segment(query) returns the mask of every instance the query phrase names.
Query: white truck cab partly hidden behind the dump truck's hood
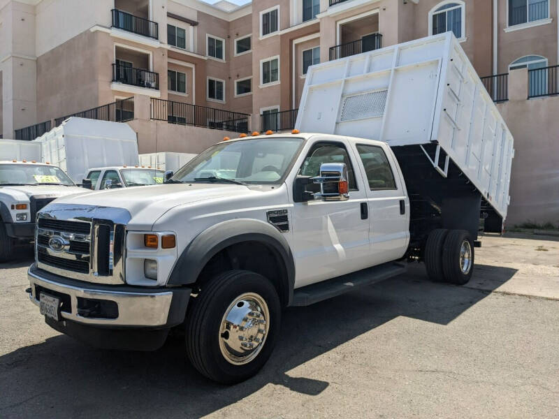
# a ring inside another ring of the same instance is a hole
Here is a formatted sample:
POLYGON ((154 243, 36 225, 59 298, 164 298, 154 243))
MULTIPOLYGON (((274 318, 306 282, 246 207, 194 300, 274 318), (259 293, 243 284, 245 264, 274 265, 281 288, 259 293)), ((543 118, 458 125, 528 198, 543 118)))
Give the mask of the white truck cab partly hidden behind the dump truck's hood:
MULTIPOLYGON (((129 186, 162 184, 164 175, 164 170, 154 169, 150 166, 112 166, 89 169, 85 180, 91 182, 90 189, 101 191, 129 186)), ((89 187, 89 182, 84 182, 84 185, 86 184, 89 187)))

